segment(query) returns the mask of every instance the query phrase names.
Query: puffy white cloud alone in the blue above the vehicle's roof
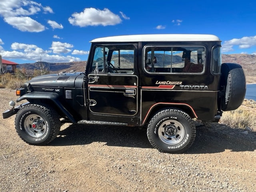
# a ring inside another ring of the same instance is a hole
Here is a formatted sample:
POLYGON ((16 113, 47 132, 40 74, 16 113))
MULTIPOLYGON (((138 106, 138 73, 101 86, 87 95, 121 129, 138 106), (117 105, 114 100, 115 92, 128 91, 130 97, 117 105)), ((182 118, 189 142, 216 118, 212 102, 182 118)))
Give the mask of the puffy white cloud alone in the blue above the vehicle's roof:
POLYGON ((104 8, 104 10, 85 8, 83 12, 73 13, 68 21, 70 24, 80 27, 116 25, 122 22, 118 15, 107 8, 104 8))

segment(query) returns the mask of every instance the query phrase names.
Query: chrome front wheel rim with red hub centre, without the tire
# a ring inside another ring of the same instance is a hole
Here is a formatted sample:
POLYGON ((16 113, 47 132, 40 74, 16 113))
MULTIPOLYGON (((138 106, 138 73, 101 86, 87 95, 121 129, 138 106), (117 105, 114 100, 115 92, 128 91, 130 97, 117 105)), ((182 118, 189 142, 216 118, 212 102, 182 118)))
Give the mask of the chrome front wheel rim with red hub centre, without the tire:
POLYGON ((41 116, 32 114, 24 120, 24 128, 30 136, 38 138, 45 134, 46 122, 41 116))

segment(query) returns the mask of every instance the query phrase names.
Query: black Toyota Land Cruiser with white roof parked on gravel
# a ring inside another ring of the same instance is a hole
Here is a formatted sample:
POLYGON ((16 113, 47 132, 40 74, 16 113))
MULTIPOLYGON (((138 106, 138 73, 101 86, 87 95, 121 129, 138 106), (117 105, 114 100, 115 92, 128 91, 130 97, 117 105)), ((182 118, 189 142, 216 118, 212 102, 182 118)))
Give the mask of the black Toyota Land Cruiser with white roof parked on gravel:
POLYGON ((221 63, 214 35, 154 34, 91 41, 85 72, 38 76, 16 90, 16 132, 29 144, 48 144, 61 120, 147 128, 160 152, 184 152, 196 136, 194 120, 218 122, 244 100, 242 67, 221 63))

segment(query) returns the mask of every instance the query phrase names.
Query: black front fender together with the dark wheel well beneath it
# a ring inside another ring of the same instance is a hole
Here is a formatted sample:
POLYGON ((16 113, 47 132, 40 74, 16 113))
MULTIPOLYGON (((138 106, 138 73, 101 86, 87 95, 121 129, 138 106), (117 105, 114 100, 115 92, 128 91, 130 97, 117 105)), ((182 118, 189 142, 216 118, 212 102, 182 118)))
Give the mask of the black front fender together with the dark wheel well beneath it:
POLYGON ((28 100, 30 103, 41 104, 45 103, 45 100, 47 100, 47 105, 55 106, 56 112, 66 116, 72 123, 77 122, 73 115, 70 114, 70 112, 68 112, 65 106, 60 102, 59 95, 57 93, 30 92, 28 94, 22 95, 16 100, 16 102, 20 102, 25 99, 28 100))

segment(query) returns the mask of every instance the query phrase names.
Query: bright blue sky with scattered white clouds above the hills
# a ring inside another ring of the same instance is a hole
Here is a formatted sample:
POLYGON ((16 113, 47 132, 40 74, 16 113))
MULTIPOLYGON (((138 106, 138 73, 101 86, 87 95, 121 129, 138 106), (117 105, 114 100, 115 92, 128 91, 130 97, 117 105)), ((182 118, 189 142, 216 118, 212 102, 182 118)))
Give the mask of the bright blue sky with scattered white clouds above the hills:
POLYGON ((84 61, 94 38, 214 34, 224 54, 256 54, 256 1, 0 0, 0 54, 17 63, 84 61))

